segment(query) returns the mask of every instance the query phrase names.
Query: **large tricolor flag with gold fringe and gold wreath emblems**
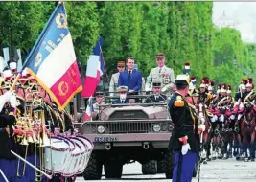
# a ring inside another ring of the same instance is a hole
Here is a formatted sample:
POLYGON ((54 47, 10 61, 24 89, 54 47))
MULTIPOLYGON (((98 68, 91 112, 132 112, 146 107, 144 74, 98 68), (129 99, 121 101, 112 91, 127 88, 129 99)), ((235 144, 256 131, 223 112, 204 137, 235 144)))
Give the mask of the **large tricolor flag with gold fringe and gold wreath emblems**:
POLYGON ((81 92, 79 67, 63 3, 58 3, 24 68, 49 93, 60 110, 81 92))

